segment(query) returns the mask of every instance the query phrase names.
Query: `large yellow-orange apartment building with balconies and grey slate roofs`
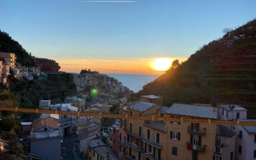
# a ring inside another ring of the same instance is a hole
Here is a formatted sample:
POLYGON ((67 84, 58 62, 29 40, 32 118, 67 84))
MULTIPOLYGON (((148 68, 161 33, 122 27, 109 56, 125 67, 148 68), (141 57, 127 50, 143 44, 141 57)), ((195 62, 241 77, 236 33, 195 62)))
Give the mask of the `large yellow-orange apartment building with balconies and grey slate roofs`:
POLYGON ((176 122, 128 119, 125 156, 128 160, 233 158, 230 157, 234 154, 235 133, 232 128, 216 124, 179 122, 180 118, 216 120, 217 108, 188 104, 164 107, 148 102, 137 102, 127 104, 126 110, 130 115, 177 118, 176 122), (222 142, 217 142, 217 139, 222 142))

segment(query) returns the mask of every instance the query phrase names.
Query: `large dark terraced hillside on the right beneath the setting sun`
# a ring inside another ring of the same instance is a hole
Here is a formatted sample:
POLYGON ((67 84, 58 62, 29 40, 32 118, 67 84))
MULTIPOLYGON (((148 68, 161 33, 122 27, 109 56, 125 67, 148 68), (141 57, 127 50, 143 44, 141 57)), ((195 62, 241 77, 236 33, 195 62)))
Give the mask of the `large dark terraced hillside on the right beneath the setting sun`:
POLYGON ((165 105, 240 104, 252 116, 256 106, 256 20, 203 46, 138 94, 162 96, 165 105))

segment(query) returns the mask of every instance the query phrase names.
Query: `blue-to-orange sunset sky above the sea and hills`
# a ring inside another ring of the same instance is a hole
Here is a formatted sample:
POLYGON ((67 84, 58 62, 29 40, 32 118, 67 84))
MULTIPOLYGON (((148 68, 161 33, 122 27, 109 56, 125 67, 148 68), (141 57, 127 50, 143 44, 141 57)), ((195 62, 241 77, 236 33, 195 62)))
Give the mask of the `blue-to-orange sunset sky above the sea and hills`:
POLYGON ((0 0, 0 30, 61 71, 162 74, 156 58, 187 60, 256 17, 256 0, 134 1, 0 0))

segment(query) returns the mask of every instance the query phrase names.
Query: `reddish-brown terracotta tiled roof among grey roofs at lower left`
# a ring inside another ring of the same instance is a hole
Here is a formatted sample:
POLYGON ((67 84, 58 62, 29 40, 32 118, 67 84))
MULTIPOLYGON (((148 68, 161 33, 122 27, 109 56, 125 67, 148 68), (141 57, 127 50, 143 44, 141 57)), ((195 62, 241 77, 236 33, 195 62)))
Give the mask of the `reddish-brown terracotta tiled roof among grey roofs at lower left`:
POLYGON ((34 131, 39 130, 40 128, 44 128, 44 127, 51 127, 51 128, 59 129, 59 122, 55 118, 44 117, 44 118, 40 119, 39 121, 32 123, 32 128, 34 131))

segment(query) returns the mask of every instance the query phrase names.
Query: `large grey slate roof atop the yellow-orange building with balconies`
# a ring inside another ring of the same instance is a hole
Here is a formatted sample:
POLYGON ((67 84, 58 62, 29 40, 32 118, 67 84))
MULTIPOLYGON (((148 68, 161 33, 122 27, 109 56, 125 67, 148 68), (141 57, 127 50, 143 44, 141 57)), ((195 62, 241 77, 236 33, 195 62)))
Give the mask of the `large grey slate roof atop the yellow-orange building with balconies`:
POLYGON ((217 118, 217 109, 214 111, 214 107, 195 106, 190 104, 178 104, 174 103, 167 111, 168 114, 176 114, 183 116, 193 116, 200 118, 217 118))

